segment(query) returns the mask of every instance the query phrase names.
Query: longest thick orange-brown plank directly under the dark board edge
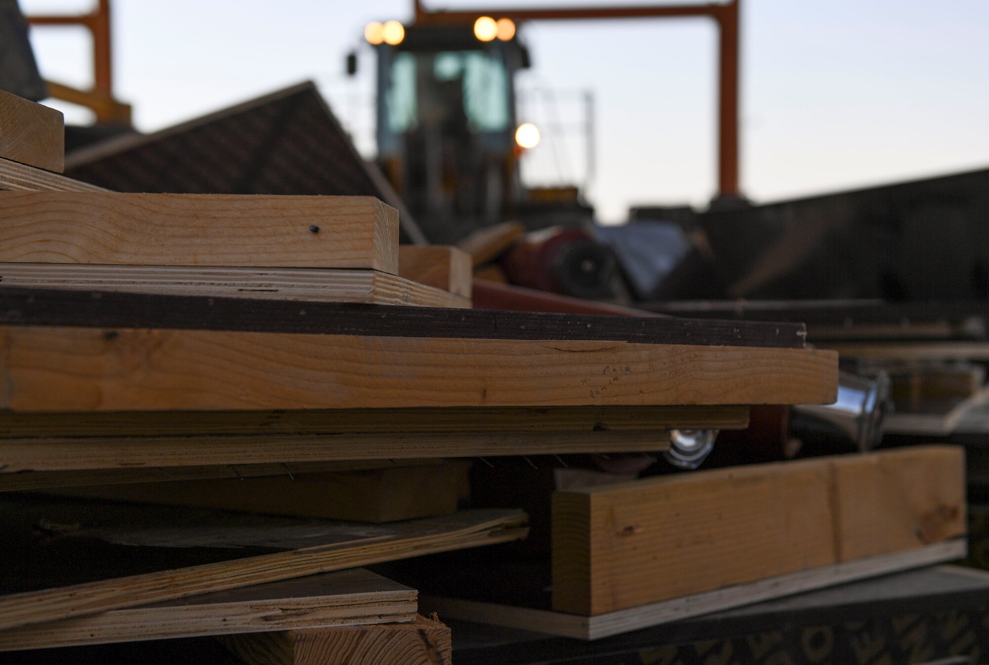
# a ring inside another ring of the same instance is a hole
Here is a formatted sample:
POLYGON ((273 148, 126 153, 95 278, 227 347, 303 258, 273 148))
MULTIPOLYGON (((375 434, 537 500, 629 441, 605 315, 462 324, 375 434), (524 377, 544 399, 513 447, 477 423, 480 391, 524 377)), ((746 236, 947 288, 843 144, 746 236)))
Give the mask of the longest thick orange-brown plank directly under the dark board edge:
POLYGON ((838 384, 810 349, 32 326, 0 349, 15 411, 827 404, 838 384))

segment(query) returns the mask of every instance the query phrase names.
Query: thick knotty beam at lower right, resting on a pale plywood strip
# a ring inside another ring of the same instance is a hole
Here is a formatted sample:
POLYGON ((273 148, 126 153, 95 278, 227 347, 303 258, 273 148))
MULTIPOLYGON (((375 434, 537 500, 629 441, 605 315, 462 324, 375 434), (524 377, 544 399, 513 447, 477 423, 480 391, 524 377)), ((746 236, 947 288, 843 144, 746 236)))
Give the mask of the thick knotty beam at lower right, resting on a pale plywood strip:
POLYGON ((558 492, 553 609, 600 615, 960 536, 963 457, 917 447, 558 492))

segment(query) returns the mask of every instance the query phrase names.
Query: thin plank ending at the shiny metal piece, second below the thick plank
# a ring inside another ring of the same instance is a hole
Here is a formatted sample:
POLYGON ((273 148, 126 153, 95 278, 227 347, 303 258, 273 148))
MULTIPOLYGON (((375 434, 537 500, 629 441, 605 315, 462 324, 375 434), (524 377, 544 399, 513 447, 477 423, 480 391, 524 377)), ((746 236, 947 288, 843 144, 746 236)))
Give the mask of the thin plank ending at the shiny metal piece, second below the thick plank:
MULTIPOLYGON (((147 412, 126 415, 139 421, 144 413, 147 412)), ((506 415, 510 417, 510 411, 506 415)), ((42 417, 44 414, 39 414, 39 418, 42 417)), ((510 422, 505 423, 505 426, 510 425, 510 422)), ((241 473, 242 465, 252 464, 291 465, 297 462, 411 456, 435 458, 654 453, 669 448, 669 433, 656 430, 30 438, 0 440, 0 491, 86 484, 73 475, 77 471, 86 472, 82 477, 88 478, 89 484, 112 482, 110 479, 93 480, 92 473, 99 472, 95 469, 119 470, 127 471, 133 477, 135 466, 144 467, 143 473, 164 478, 171 474, 171 471, 162 470, 165 467, 223 464, 224 468, 232 469, 229 473, 235 477, 236 473, 241 473), (58 473, 68 475, 55 475, 58 473), (35 479, 34 476, 39 477, 35 479)), ((295 473, 294 470, 292 472, 295 473)))

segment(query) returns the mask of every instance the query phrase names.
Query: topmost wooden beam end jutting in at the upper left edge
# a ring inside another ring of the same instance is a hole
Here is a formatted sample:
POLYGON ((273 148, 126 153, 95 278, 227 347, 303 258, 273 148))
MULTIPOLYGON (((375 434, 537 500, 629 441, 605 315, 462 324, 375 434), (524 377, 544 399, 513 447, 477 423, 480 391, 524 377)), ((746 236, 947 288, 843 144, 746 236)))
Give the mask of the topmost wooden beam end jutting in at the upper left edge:
POLYGON ((0 90, 0 157, 61 173, 65 168, 61 111, 0 90))

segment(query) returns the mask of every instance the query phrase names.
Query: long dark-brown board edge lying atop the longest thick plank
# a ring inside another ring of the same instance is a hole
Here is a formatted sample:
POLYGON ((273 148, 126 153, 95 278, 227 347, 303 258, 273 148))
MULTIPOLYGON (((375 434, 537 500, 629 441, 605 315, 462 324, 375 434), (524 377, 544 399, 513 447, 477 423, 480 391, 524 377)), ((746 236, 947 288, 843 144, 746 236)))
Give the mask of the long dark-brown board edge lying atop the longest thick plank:
POLYGON ((802 323, 0 288, 0 324, 804 348, 802 323))

